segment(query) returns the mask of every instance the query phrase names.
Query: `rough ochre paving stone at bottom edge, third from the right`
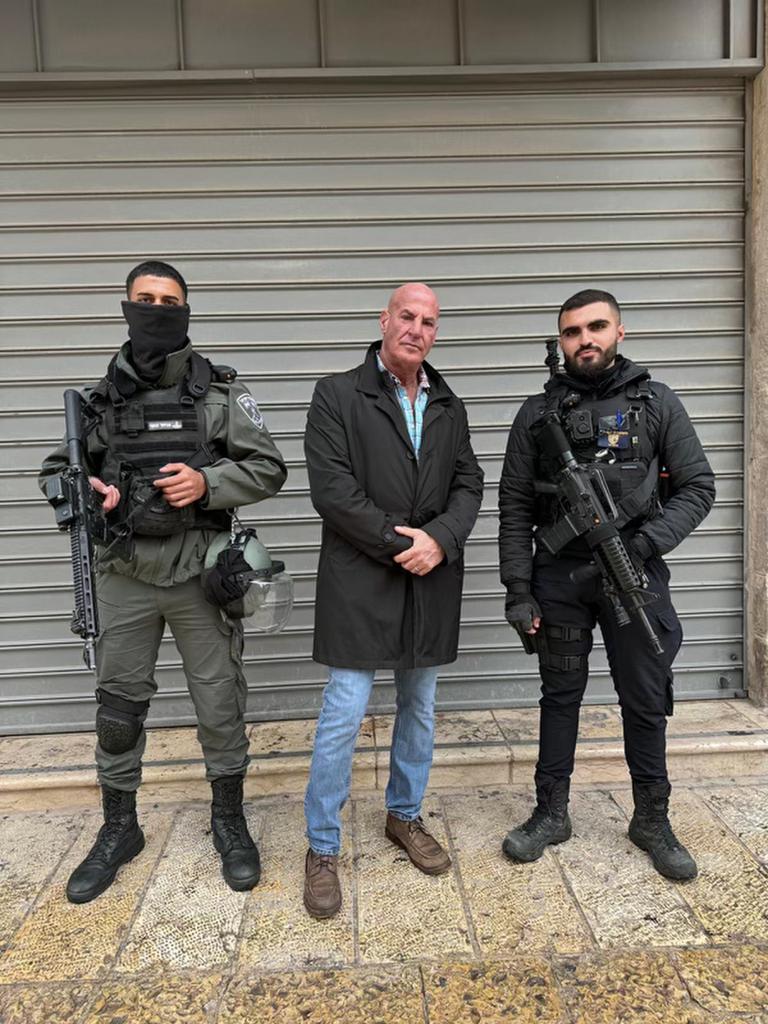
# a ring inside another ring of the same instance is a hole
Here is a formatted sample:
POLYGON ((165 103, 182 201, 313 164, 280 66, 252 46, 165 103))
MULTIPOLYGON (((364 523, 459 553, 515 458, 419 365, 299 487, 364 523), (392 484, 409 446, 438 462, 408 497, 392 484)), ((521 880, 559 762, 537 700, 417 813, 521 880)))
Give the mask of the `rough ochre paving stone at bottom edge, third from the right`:
POLYGON ((545 959, 425 966, 429 1024, 565 1024, 545 959))

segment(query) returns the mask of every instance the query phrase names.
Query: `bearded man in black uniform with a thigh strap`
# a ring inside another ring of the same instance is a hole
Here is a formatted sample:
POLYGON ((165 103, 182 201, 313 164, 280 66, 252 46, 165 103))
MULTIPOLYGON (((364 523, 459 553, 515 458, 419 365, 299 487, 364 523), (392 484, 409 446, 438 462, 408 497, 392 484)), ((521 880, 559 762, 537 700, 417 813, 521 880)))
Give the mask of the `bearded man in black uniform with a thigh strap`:
POLYGON ((537 805, 504 840, 512 860, 541 857, 570 837, 567 813, 579 709, 587 685, 596 623, 605 641, 624 722, 635 813, 630 839, 660 873, 691 879, 696 864, 676 839, 668 810, 666 716, 672 714, 672 663, 682 641, 662 556, 677 547, 712 508, 714 475, 677 395, 617 353, 624 338, 618 304, 587 290, 558 317, 564 372, 529 397, 512 425, 499 488, 500 561, 506 615, 539 654, 542 678, 537 805), (587 568, 583 537, 556 554, 537 544, 537 527, 561 520, 553 467, 537 444, 537 423, 559 415, 578 463, 597 464, 615 502, 621 536, 657 595, 644 608, 664 653, 654 652, 636 617, 618 627, 599 574, 587 568), (532 429, 531 429, 532 428, 532 429), (659 481, 665 483, 659 487, 659 481), (571 579, 575 573, 575 582, 571 579))

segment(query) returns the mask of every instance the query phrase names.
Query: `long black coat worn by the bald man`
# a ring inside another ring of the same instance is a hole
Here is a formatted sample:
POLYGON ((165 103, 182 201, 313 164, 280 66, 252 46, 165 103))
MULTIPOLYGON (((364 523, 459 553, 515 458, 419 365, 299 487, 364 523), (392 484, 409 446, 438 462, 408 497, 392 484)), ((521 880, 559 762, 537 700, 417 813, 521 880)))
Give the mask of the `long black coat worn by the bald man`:
POLYGON ((304 438, 312 504, 323 518, 315 660, 347 669, 423 668, 457 656, 464 544, 482 470, 464 406, 430 383, 417 460, 402 411, 372 345, 366 361, 317 382, 304 438), (394 526, 426 530, 445 552, 416 577, 392 559, 411 546, 394 526))

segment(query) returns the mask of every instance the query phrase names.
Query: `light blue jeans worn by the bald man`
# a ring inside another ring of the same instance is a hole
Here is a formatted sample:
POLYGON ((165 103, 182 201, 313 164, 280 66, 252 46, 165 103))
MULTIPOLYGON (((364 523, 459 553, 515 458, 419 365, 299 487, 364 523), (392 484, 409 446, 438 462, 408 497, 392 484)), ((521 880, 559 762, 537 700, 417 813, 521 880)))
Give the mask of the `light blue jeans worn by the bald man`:
MULTIPOLYGON (((341 848, 341 809, 374 675, 373 669, 330 670, 304 797, 306 835, 315 853, 337 854, 341 848)), ((437 669, 396 669, 394 682, 397 714, 385 799, 391 814, 410 821, 419 817, 432 764, 437 669)))

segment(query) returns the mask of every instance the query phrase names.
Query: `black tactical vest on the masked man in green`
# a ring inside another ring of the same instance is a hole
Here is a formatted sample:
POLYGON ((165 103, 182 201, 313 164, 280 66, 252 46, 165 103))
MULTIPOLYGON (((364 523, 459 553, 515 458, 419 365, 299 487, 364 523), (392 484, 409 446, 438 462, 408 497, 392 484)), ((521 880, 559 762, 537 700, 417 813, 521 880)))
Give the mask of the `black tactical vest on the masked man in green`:
POLYGON ((153 480, 167 463, 201 469, 224 455, 207 440, 205 396, 212 380, 230 383, 236 376, 231 368, 212 367, 194 352, 183 380, 167 388, 141 388, 113 359, 89 402, 103 418, 108 449, 101 475, 121 493, 118 525, 127 523, 140 537, 230 528, 228 512, 203 509, 197 502, 173 508, 153 480))

